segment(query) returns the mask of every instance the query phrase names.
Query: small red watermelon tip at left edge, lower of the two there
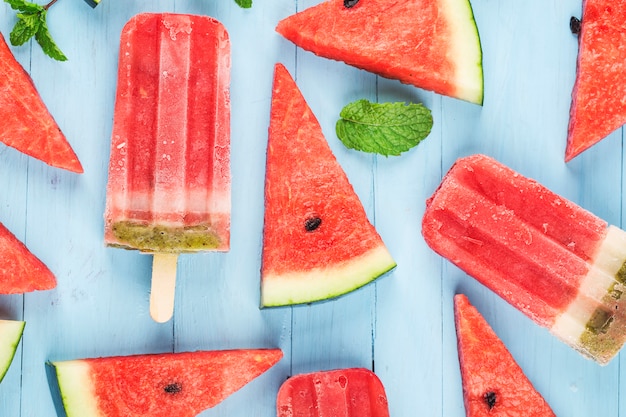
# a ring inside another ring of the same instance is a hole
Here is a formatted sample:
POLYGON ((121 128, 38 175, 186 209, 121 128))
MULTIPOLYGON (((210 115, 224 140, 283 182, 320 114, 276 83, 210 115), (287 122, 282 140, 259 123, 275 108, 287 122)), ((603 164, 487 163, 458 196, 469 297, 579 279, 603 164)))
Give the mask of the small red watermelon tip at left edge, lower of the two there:
POLYGON ((19 294, 56 287, 56 278, 0 223, 0 294, 19 294))

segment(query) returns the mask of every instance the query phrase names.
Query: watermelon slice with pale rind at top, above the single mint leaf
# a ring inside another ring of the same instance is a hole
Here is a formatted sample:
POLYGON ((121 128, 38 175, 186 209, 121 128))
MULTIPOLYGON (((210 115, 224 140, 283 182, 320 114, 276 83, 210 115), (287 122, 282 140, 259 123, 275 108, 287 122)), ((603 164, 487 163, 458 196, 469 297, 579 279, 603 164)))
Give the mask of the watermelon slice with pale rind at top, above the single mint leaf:
POLYGON ((468 0, 326 0, 281 20, 276 31, 319 56, 483 102, 482 50, 468 0))

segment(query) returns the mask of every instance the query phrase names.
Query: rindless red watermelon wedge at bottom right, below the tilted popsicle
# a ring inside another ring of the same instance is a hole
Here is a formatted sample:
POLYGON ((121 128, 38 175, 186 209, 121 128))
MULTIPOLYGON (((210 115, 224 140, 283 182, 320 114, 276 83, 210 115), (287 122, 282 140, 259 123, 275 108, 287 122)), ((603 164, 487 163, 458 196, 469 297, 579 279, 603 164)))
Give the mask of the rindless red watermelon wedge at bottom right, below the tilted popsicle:
POLYGON ((555 416, 484 317, 463 294, 454 319, 467 417, 555 416))

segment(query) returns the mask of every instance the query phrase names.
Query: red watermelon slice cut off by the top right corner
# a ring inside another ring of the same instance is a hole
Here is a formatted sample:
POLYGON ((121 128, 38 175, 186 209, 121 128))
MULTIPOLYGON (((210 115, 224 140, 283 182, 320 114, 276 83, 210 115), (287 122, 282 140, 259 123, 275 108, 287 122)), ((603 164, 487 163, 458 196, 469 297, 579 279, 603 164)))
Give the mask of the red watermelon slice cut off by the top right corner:
POLYGON ((583 1, 565 161, 626 123, 626 2, 583 1))

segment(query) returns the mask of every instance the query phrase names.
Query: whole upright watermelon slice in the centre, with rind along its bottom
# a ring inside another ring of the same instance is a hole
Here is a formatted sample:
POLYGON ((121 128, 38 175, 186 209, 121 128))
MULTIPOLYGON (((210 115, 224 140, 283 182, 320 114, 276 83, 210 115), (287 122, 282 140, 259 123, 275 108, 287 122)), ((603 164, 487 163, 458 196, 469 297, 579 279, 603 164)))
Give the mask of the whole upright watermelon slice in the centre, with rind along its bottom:
POLYGON ((324 300, 396 266, 291 75, 274 74, 261 305, 324 300))

